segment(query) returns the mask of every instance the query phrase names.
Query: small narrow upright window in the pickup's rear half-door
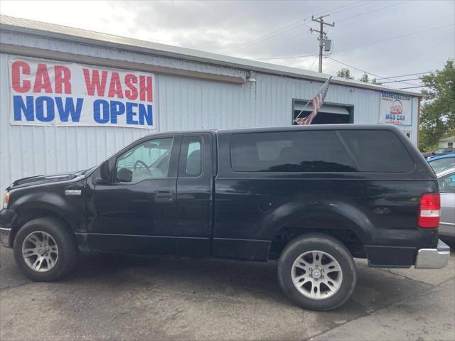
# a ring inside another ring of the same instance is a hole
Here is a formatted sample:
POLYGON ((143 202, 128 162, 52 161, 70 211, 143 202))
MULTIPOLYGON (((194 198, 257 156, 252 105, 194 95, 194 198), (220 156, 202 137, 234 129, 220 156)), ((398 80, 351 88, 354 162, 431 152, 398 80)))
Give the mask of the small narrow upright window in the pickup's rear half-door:
POLYGON ((180 153, 178 176, 198 177, 202 173, 202 139, 200 136, 184 136, 180 153))

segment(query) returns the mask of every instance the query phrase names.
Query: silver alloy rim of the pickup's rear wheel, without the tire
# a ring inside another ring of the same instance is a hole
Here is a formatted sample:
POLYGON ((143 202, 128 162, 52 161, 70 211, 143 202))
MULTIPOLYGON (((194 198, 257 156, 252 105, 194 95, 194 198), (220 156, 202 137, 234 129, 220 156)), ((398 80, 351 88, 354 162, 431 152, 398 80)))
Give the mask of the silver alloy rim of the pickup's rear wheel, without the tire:
POLYGON ((343 271, 335 257, 324 251, 306 251, 296 258, 291 269, 292 283, 302 295, 314 300, 338 292, 343 271))

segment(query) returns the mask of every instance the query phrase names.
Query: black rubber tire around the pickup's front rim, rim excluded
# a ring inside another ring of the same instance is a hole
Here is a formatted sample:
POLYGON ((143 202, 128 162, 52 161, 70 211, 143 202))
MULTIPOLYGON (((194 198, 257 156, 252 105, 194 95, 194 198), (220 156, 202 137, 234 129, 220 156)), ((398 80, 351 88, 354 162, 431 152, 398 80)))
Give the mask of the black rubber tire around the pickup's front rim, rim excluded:
POLYGON ((41 217, 26 224, 18 230, 14 238, 14 259, 19 269, 33 281, 55 281, 68 274, 77 264, 79 250, 73 233, 68 227, 54 217, 41 217), (33 232, 46 232, 53 238, 58 247, 58 258, 52 269, 45 272, 38 272, 26 264, 22 255, 24 239, 33 232))

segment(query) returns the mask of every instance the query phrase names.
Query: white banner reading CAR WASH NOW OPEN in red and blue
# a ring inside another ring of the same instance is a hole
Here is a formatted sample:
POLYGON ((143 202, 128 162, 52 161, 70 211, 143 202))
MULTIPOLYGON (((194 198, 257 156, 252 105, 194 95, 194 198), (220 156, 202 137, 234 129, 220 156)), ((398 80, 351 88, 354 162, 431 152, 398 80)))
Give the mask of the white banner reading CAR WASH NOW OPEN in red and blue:
POLYGON ((154 127, 154 75, 9 58, 11 124, 154 127))

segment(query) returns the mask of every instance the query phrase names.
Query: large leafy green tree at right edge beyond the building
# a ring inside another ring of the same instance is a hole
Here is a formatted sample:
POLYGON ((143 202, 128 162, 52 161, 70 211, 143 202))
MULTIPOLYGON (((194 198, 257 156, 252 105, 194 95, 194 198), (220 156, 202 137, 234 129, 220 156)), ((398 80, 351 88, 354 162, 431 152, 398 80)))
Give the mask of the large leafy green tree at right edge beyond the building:
POLYGON ((447 60, 443 70, 421 79, 428 90, 422 90, 419 148, 428 151, 437 146, 439 139, 455 131, 455 60, 447 60))

